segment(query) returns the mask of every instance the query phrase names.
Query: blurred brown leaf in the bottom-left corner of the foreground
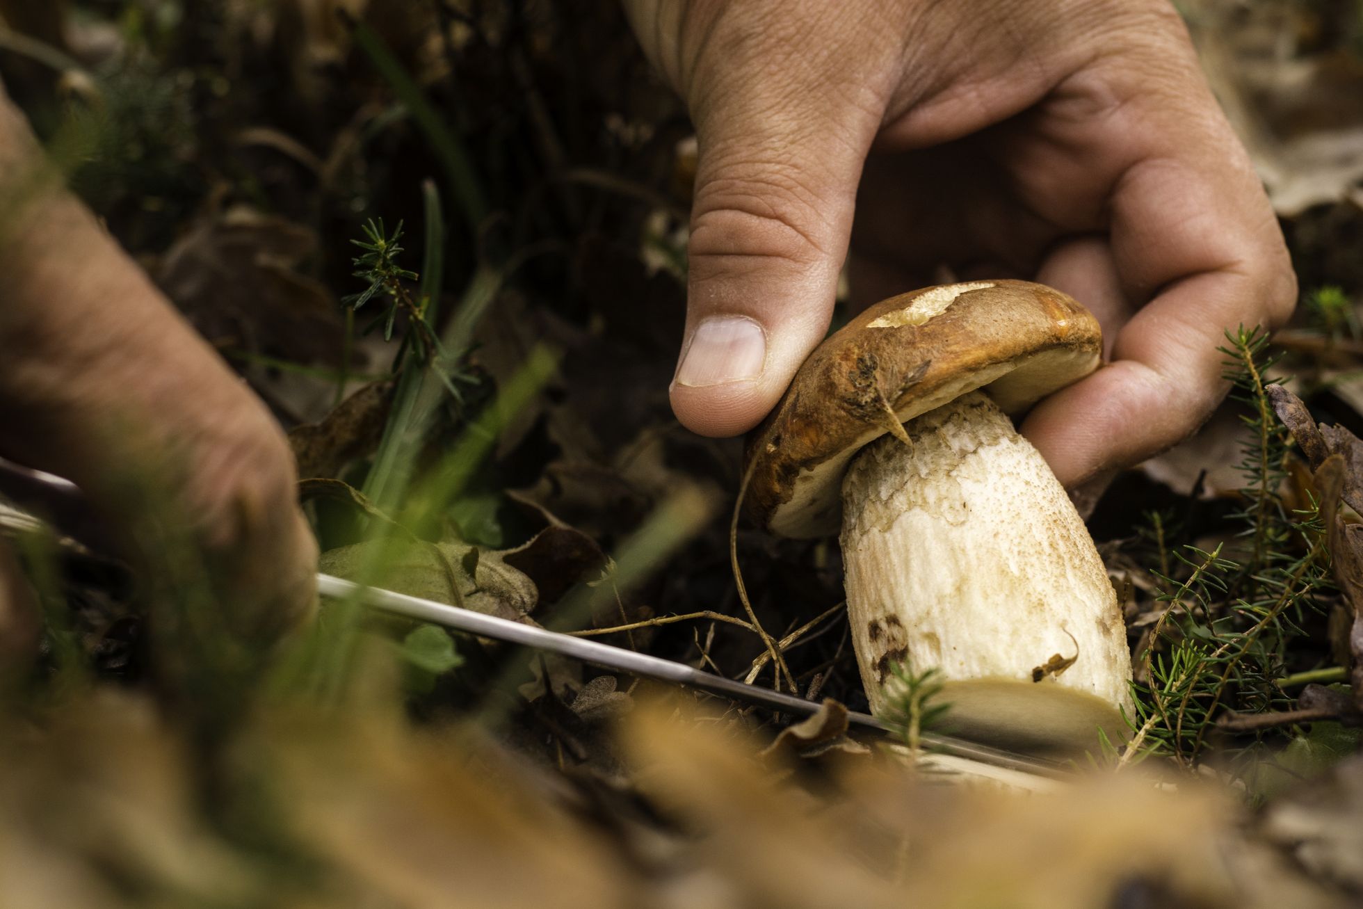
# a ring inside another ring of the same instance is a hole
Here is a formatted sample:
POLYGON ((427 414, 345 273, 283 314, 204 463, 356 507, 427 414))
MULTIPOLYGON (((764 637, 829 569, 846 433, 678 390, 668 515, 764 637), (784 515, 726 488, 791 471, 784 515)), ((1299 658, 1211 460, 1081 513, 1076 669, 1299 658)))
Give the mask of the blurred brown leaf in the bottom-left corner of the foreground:
POLYGON ((97 692, 41 736, 4 732, 0 904, 125 906, 139 887, 183 904, 264 897, 259 871, 202 815, 189 754, 149 703, 97 692))

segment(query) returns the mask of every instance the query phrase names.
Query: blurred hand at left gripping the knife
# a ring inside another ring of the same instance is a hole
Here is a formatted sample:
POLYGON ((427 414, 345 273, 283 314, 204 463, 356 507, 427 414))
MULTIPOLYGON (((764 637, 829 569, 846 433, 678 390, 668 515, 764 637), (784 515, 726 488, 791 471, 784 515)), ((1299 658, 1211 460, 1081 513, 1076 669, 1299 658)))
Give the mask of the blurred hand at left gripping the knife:
POLYGON ((202 560, 234 630, 286 631, 316 544, 284 433, 41 161, 0 94, 0 455, 79 484, 149 572, 202 560))

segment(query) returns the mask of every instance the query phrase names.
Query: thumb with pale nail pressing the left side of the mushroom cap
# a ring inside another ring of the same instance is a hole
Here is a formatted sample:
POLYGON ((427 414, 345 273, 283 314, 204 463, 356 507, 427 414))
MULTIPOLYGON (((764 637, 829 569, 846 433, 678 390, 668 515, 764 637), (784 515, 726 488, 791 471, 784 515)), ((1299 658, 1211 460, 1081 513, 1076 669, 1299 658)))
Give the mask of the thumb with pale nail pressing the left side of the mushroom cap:
POLYGON ((687 322, 671 392, 688 429, 731 436, 767 414, 827 331, 883 105, 770 61, 717 70, 718 84, 694 83, 707 101, 692 104, 687 322))

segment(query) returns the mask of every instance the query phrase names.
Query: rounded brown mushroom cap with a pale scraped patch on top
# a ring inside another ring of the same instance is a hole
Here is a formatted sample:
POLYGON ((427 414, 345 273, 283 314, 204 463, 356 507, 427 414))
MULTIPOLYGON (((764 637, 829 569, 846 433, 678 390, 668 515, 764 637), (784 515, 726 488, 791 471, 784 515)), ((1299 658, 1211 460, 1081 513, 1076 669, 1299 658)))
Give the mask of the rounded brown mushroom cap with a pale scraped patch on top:
POLYGON ((983 388, 1007 414, 1093 372, 1097 319, 1029 281, 972 281, 882 300, 825 339, 750 436, 746 515, 771 533, 837 533, 842 473, 900 422, 983 388))

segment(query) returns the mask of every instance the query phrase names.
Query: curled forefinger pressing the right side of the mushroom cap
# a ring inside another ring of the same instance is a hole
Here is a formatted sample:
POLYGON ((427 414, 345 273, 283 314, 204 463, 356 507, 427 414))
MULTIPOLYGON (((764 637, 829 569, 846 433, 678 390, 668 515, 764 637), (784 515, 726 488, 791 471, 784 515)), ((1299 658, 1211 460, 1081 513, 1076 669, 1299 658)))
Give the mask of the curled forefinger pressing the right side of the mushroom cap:
POLYGON ((1104 63, 1078 79, 1124 99, 1101 119, 1104 144, 1126 162, 1108 203, 1115 270, 1099 278, 1109 285, 1099 293, 1115 278, 1120 296, 1148 303, 1119 328, 1111 365, 1024 424, 1066 485, 1193 433, 1227 391, 1217 352, 1225 333, 1277 328, 1296 303, 1277 219, 1191 46, 1179 38, 1149 65, 1137 63, 1120 72, 1104 63))

